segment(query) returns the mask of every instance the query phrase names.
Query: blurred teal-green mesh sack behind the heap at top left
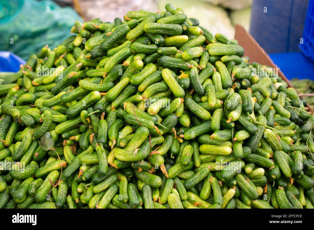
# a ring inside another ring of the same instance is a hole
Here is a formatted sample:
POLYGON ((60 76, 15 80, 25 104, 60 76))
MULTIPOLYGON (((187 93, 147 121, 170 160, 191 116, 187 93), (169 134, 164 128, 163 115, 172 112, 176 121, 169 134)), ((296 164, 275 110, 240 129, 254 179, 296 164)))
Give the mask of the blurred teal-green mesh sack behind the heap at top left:
POLYGON ((82 21, 77 12, 52 1, 0 1, 0 50, 27 60, 44 45, 54 48, 70 36, 75 20, 82 21))

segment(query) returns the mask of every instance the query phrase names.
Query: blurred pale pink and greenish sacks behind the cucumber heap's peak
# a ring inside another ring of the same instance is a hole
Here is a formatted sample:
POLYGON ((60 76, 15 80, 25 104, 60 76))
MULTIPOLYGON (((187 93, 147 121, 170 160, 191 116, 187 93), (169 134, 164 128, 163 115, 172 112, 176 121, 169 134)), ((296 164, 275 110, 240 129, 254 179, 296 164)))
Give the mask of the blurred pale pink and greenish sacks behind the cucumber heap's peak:
POLYGON ((78 0, 74 8, 84 19, 91 20, 97 15, 106 22, 116 17, 122 18, 128 11, 144 9, 161 12, 167 3, 180 5, 188 18, 198 18, 212 33, 223 33, 233 38, 237 24, 246 31, 250 28, 252 0, 115 0, 108 3, 104 0, 78 0))

